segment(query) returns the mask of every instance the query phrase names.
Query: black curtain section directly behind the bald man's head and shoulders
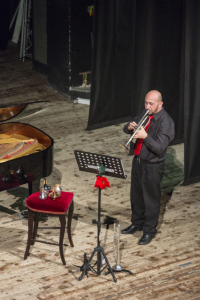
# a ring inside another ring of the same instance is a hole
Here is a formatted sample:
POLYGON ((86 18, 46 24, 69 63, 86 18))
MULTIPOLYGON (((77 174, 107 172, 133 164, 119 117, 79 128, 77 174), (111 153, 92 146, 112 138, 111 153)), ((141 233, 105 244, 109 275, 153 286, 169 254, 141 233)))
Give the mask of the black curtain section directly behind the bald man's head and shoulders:
POLYGON ((144 108, 148 91, 158 90, 175 122, 174 142, 183 142, 184 1, 137 1, 132 116, 144 108))

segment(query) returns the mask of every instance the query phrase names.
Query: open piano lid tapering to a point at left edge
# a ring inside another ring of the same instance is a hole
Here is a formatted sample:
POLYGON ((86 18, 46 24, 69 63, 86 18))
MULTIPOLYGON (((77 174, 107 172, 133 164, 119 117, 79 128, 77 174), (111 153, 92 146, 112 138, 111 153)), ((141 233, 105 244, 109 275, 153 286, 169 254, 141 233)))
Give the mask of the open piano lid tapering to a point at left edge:
POLYGON ((11 119, 14 121, 22 119, 28 115, 32 115, 47 105, 50 104, 50 101, 40 101, 40 102, 29 102, 22 103, 19 105, 11 106, 1 106, 0 107, 0 123, 8 122, 11 119))

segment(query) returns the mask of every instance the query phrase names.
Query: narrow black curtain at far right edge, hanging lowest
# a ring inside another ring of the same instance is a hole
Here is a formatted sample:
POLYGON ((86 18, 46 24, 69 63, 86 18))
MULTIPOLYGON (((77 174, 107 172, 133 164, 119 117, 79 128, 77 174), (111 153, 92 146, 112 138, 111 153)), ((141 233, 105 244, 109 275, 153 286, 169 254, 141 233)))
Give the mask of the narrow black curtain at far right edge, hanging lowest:
POLYGON ((184 185, 200 181, 200 1, 186 1, 184 185))

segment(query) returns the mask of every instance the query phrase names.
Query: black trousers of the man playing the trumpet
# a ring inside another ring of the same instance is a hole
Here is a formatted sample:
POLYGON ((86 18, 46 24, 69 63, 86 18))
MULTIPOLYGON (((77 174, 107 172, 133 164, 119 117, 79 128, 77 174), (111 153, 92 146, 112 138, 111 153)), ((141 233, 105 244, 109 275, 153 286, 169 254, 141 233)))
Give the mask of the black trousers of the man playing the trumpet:
POLYGON ((144 234, 155 235, 160 213, 160 182, 164 173, 164 161, 145 164, 133 158, 131 174, 132 223, 144 234))

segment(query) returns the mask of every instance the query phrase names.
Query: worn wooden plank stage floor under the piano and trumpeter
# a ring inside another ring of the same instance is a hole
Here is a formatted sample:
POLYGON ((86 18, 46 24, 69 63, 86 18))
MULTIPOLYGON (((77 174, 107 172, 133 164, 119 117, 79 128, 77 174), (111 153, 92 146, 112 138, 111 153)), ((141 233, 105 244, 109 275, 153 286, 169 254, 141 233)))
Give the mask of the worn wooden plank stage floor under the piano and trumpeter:
MULTIPOLYGON (((32 70, 31 62, 18 60, 16 46, 0 52, 0 103, 50 100, 51 104, 21 122, 49 134, 55 141, 54 170, 49 183, 61 183, 63 190, 74 193, 72 220, 74 248, 65 238, 66 266, 57 246, 36 243, 23 260, 27 240, 27 219, 17 213, 26 209, 27 186, 0 193, 0 299, 200 299, 200 183, 180 186, 183 180, 183 144, 169 147, 162 182, 158 234, 146 246, 139 246, 141 232, 120 236, 121 265, 133 272, 96 276, 89 272, 79 282, 83 255, 92 253, 97 243, 97 189, 95 174, 78 170, 74 150, 120 157, 127 179, 107 177, 111 188, 102 191, 101 220, 117 218, 123 229, 130 224, 130 171, 132 157, 120 148, 126 142, 124 124, 85 131, 89 107, 74 104, 47 86, 46 77, 32 70), (173 193, 172 193, 173 191, 173 193), (7 209, 7 210, 6 210, 7 209), (14 210, 15 214, 9 214, 14 210)), ((58 226, 49 218, 42 226, 58 226)), ((58 242, 58 230, 40 230, 40 239, 58 242)), ((102 225, 101 244, 111 265, 115 264, 113 225, 102 225)), ((96 257, 94 259, 94 262, 96 257)))

